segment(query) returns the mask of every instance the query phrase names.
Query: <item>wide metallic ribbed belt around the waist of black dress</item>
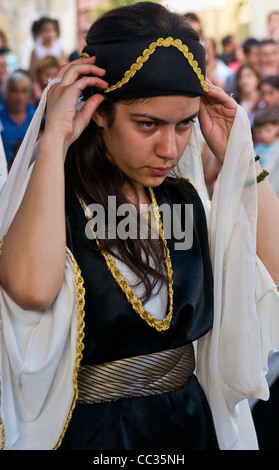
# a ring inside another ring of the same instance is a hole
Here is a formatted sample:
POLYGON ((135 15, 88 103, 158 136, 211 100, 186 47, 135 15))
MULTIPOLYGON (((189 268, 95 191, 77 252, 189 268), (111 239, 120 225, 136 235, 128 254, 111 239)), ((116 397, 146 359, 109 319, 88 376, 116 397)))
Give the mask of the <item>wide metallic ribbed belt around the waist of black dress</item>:
POLYGON ((158 353, 81 366, 78 403, 103 403, 173 391, 187 383, 194 369, 191 343, 158 353))

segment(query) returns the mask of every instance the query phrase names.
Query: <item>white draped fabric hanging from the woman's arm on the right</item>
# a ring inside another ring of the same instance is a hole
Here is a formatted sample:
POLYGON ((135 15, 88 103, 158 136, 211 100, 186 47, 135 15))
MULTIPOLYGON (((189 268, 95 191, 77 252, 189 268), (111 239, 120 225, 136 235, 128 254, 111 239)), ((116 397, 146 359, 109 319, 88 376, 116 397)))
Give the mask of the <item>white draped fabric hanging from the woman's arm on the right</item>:
POLYGON ((220 448, 257 449, 246 398, 269 397, 265 375, 269 355, 279 349, 279 293, 256 255, 257 184, 245 111, 238 106, 212 201, 197 147, 193 136, 182 172, 204 202, 214 276, 214 325, 198 341, 197 375, 220 448))

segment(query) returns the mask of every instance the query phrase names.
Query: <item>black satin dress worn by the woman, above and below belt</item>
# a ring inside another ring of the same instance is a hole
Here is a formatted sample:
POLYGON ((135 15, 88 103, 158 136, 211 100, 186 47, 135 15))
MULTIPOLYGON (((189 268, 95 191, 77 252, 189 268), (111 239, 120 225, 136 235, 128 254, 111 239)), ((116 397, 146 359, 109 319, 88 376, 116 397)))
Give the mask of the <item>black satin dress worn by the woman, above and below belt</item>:
MULTIPOLYGON (((158 205, 193 204, 193 244, 174 249, 167 240, 173 267, 174 310, 169 329, 157 331, 127 302, 108 271, 105 259, 85 236, 83 208, 66 191, 67 244, 81 268, 85 295, 85 340, 82 365, 101 364, 191 343, 213 321, 213 280, 207 227, 201 200, 186 180, 170 179, 154 188, 158 205)), ((184 229, 184 211, 181 225, 184 229)), ((185 386, 159 395, 109 403, 77 404, 61 450, 175 451, 217 449, 212 416, 195 375, 185 386)))

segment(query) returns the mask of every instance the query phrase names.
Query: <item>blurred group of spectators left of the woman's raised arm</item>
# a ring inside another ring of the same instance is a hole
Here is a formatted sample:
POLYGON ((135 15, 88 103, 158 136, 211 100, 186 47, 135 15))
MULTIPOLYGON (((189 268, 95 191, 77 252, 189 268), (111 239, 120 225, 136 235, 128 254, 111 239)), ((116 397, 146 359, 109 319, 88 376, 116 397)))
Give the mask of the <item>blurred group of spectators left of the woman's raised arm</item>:
MULTIPOLYGON (((22 69, 0 31, 0 130, 8 170, 33 118, 48 80, 72 60, 60 41, 59 22, 42 17, 32 24, 33 50, 29 67, 22 69)), ((75 55, 75 54, 73 54, 75 55)), ((40 133, 43 132, 42 123, 40 133)))

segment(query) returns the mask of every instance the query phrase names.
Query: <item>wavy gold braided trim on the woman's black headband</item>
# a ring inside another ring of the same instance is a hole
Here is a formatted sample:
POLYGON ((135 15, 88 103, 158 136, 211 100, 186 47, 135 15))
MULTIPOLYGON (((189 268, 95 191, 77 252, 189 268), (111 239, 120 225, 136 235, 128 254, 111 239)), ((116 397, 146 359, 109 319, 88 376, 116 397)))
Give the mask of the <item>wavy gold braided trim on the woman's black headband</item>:
POLYGON ((180 39, 174 40, 172 37, 168 37, 166 39, 159 38, 157 39, 156 42, 152 42, 150 46, 148 47, 148 49, 145 49, 143 51, 142 56, 138 57, 136 62, 130 67, 130 69, 124 73, 124 77, 119 82, 115 83, 115 85, 111 85, 107 87, 104 90, 104 92, 109 93, 110 91, 114 91, 117 88, 121 88, 122 85, 125 85, 126 83, 128 83, 130 78, 132 78, 135 75, 135 73, 141 69, 144 62, 146 62, 149 59, 151 54, 153 54, 153 52, 158 46, 163 46, 163 47, 173 46, 173 47, 176 47, 180 52, 182 52, 182 54, 188 60, 190 66, 194 70, 195 74, 197 75, 201 83, 202 89, 205 92, 208 91, 205 78, 202 74, 199 64, 196 60, 194 60, 194 56, 191 52, 189 52, 189 48, 185 46, 185 44, 182 44, 182 41, 180 39))

